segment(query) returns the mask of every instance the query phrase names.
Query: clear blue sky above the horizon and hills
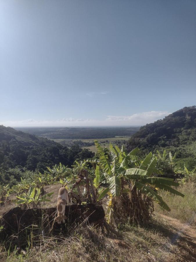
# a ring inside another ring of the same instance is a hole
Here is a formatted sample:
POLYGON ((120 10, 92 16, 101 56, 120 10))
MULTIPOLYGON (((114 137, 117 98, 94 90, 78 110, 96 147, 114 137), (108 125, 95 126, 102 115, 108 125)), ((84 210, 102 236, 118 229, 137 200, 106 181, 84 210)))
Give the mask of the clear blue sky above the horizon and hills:
POLYGON ((196 104, 196 1, 0 0, 0 124, 143 125, 196 104))

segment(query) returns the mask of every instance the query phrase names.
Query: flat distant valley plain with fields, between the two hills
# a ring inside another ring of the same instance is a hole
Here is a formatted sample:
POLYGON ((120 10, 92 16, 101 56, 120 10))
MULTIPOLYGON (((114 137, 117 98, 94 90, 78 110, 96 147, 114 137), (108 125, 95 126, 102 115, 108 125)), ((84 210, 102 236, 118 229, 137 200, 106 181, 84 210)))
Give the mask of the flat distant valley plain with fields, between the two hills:
POLYGON ((118 145, 125 144, 130 137, 139 130, 139 126, 119 127, 51 127, 51 128, 16 128, 17 130, 46 137, 63 146, 71 148, 78 145, 96 152, 94 141, 100 145, 109 147, 109 143, 118 145))

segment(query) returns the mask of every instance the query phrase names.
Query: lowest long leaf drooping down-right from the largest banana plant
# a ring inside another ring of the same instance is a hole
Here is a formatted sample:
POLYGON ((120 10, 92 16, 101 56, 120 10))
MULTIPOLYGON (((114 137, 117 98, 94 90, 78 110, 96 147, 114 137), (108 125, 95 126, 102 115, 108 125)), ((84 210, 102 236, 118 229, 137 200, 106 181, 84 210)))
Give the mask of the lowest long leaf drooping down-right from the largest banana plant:
POLYGON ((157 202, 162 208, 167 211, 170 211, 168 205, 163 201, 162 197, 160 197, 153 189, 148 186, 143 185, 140 182, 135 182, 135 186, 138 190, 141 190, 143 194, 146 194, 148 197, 151 197, 155 202, 157 202))

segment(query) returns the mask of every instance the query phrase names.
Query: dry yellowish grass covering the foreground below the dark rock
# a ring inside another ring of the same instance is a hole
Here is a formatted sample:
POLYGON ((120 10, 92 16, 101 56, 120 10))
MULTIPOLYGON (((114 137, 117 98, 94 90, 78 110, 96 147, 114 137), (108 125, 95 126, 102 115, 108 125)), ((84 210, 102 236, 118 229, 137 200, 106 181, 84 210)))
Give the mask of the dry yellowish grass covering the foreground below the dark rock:
MULTIPOLYGON (((172 261, 174 247, 157 229, 124 225, 112 238, 93 226, 80 226, 69 236, 30 240, 26 250, 0 247, 0 261, 172 261)), ((173 260, 175 261, 175 260, 173 260)))

